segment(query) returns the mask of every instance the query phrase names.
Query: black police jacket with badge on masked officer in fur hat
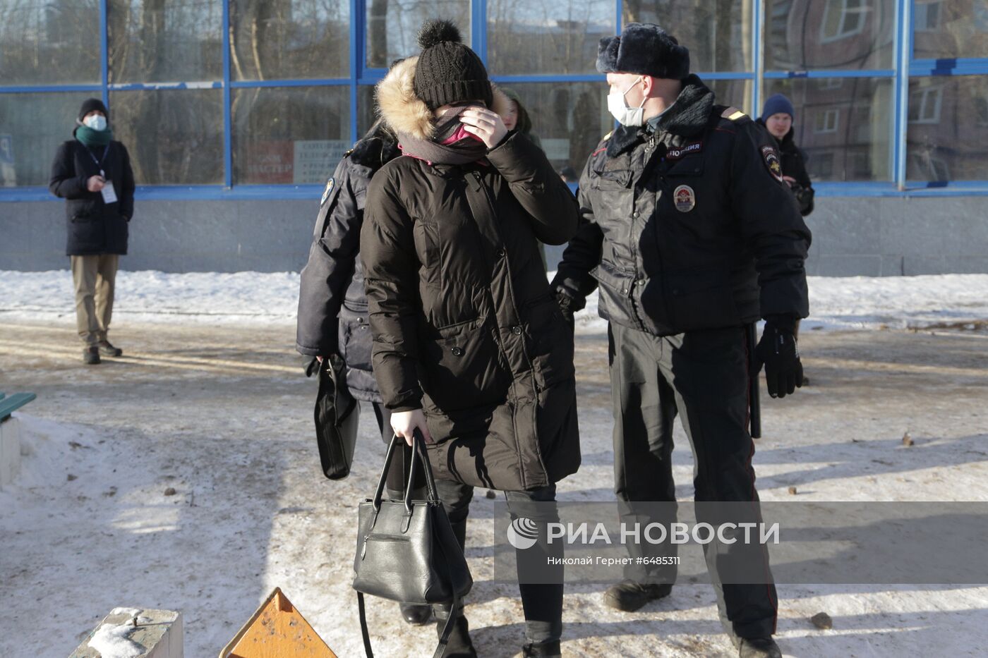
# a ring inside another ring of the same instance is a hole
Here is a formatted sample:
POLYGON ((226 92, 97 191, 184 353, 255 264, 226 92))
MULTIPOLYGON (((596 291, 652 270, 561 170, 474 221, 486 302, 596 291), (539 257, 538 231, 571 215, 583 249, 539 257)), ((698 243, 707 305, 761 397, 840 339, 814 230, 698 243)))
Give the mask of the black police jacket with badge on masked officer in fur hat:
POLYGON ((619 127, 580 178, 582 225, 553 286, 655 335, 805 317, 810 244, 767 130, 695 75, 655 131, 619 127))

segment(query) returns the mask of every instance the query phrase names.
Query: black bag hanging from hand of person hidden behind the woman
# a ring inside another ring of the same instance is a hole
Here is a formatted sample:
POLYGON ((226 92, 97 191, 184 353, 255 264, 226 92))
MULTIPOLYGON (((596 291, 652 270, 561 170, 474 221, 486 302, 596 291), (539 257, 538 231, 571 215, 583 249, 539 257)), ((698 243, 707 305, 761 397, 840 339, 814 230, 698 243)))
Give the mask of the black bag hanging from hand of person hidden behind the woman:
POLYGON ((318 364, 319 392, 315 396, 315 440, 323 474, 340 480, 350 474, 357 446, 360 405, 343 383, 346 366, 333 355, 318 364))

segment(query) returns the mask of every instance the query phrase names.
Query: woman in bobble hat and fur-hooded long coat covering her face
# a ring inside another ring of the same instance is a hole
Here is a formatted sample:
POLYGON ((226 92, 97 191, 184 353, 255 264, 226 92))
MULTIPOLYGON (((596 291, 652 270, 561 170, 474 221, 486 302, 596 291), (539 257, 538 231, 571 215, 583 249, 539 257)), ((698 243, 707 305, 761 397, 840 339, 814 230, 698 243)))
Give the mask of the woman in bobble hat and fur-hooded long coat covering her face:
MULTIPOLYGON (((544 154, 505 128, 507 99, 460 41, 453 24, 427 22, 421 53, 377 86, 403 157, 371 180, 361 255, 391 427, 408 442, 416 430, 425 437, 463 545, 474 487, 505 491, 513 512, 551 503, 580 465, 580 444, 572 329, 537 247, 574 235, 576 202, 544 154)), ((539 514, 524 516, 542 528, 555 520, 539 514)), ((560 548, 525 552, 544 565, 560 548)), ((559 655, 561 578, 520 589, 525 655, 559 655)), ((441 625, 451 613, 437 607, 441 625)), ((476 655, 458 612, 444 655, 476 655)))

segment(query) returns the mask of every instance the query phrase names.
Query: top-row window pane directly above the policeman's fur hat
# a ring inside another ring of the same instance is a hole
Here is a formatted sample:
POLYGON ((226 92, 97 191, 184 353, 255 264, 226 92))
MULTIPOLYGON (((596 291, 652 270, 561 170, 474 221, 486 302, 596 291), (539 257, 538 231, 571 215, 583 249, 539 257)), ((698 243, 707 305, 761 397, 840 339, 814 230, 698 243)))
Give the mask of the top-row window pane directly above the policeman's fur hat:
POLYGON ((690 48, 694 71, 750 71, 750 0, 624 0, 623 21, 655 23, 690 48))

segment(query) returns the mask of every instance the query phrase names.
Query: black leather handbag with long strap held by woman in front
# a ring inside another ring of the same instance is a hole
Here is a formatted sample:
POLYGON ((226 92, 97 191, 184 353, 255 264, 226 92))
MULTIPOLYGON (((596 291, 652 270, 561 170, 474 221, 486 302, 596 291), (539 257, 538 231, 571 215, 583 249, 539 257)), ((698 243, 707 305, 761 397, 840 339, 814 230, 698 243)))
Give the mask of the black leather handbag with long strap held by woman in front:
POLYGON ((463 551, 453 535, 453 526, 436 492, 425 441, 416 431, 412 463, 403 500, 382 500, 388 467, 403 439, 394 437, 387 448, 377 490, 360 505, 357 556, 354 558, 354 589, 360 607, 364 649, 373 658, 364 595, 399 603, 452 604, 435 658, 443 655, 450 639, 460 599, 473 586, 463 551), (426 500, 412 500, 412 484, 418 465, 425 473, 426 500))

